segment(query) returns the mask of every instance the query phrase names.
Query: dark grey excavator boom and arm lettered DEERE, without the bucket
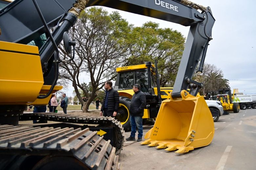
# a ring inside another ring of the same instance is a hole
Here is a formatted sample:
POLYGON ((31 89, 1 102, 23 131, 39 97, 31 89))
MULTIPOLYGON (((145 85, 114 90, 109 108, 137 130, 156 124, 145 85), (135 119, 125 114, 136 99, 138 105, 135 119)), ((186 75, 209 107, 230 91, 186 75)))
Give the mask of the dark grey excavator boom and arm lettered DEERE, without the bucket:
MULTIPOLYGON (((46 3, 43 3, 41 0, 37 1, 46 18, 46 22, 51 27, 55 26, 65 11, 70 9, 73 3, 75 3, 74 0, 49 1, 51 5, 49 3, 46 5, 46 3), (52 8, 54 8, 54 10, 52 8)), ((183 2, 184 0, 179 1, 183 2)), ((3 34, 0 36, 1 41, 27 44, 35 37, 46 32, 43 23, 39 19, 36 19, 39 18, 39 16, 30 15, 27 17, 23 16, 22 18, 17 16, 20 13, 30 14, 35 11, 35 7, 31 1, 16 0, 11 4, 0 11, 0 25, 3 34), (6 21, 19 24, 19 26, 4 25, 6 21), (30 28, 31 25, 33 26, 32 28, 30 28), (16 31, 17 27, 25 31, 16 31)), ((203 66, 208 42, 211 40, 211 30, 215 19, 209 7, 207 7, 206 10, 199 8, 203 10, 203 12, 200 13, 198 10, 174 0, 90 0, 86 7, 89 6, 105 6, 181 24, 183 26, 190 26, 172 96, 179 97, 181 90, 187 90, 189 88, 191 82, 188 81, 188 79, 191 80, 200 58, 202 58, 200 66, 203 66)), ((195 6, 196 5, 193 7, 195 6)), ((70 28, 74 23, 71 24, 67 22, 67 24, 69 24, 68 27, 70 28)), ((59 32, 62 33, 63 31, 65 30, 59 32)), ((54 41, 57 45, 62 40, 62 36, 60 36, 61 33, 55 35, 54 41)), ((54 52, 54 47, 51 42, 49 40, 47 42, 48 44, 46 43, 46 45, 39 50, 43 68, 54 52)), ((202 69, 200 71, 202 71, 202 69)), ((194 96, 197 94, 197 92, 193 90, 191 90, 190 93, 194 96)))

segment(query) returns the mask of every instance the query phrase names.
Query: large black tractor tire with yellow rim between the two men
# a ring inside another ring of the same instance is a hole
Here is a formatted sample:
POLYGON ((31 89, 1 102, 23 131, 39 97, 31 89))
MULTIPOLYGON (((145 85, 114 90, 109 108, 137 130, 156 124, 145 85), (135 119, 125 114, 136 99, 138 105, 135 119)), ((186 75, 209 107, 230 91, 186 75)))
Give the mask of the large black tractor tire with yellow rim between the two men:
POLYGON ((127 97, 119 97, 119 107, 117 111, 117 116, 115 118, 121 122, 123 125, 123 129, 126 132, 129 132, 131 130, 131 124, 130 124, 130 109, 131 105, 131 99, 127 97))

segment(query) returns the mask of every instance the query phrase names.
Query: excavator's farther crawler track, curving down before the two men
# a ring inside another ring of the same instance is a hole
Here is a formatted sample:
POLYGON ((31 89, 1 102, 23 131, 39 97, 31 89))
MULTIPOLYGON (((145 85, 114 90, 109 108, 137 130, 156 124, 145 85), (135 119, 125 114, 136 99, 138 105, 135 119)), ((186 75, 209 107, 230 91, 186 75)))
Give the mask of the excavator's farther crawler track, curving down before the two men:
MULTIPOLYGON (((96 127, 90 127, 90 130, 94 131, 95 128, 105 128, 111 134, 104 135, 105 139, 111 140, 111 144, 116 147, 116 154, 119 154, 123 147, 124 142, 124 130, 122 124, 112 117, 104 116, 88 116, 88 115, 76 115, 76 114, 64 114, 64 113, 23 113, 19 116, 19 121, 28 120, 47 120, 63 123, 79 123, 79 124, 98 124, 96 127)), ((106 131, 107 131, 106 130, 106 131)))

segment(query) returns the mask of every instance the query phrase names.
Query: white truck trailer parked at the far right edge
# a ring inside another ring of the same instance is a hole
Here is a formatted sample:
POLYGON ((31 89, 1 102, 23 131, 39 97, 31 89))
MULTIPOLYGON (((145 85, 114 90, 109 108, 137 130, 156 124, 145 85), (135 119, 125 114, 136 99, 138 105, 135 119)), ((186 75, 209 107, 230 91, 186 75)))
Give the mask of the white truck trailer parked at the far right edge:
POLYGON ((239 103, 242 110, 256 109, 256 95, 237 95, 234 96, 233 103, 239 103))

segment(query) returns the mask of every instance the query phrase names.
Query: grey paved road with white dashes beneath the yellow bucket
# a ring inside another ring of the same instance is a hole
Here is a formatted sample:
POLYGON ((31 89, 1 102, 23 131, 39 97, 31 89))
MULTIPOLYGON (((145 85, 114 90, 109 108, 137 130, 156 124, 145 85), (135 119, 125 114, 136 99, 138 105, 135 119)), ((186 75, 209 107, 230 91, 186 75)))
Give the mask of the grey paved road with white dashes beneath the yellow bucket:
MULTIPOLYGON (((119 155, 121 169, 256 169, 256 109, 223 115, 215 124, 210 145, 186 154, 125 142, 119 155)), ((153 126, 143 127, 146 133, 153 126)), ((125 138, 130 133, 125 132, 125 138)))

